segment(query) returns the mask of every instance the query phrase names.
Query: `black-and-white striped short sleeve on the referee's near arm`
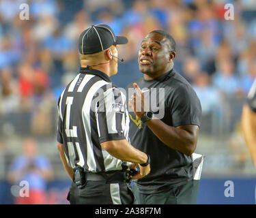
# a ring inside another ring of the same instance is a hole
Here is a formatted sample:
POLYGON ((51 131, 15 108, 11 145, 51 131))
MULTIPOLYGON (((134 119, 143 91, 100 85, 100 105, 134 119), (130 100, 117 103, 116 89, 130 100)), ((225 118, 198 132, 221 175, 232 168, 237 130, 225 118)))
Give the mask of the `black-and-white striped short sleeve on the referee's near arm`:
POLYGON ((96 109, 96 122, 100 143, 126 139, 126 97, 119 89, 104 91, 96 109))

